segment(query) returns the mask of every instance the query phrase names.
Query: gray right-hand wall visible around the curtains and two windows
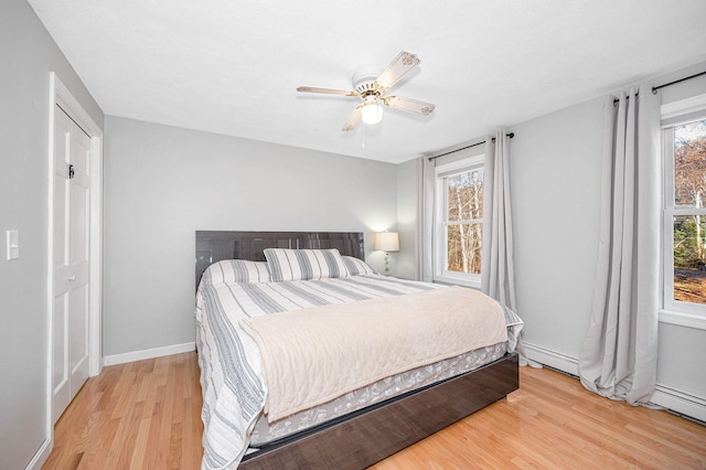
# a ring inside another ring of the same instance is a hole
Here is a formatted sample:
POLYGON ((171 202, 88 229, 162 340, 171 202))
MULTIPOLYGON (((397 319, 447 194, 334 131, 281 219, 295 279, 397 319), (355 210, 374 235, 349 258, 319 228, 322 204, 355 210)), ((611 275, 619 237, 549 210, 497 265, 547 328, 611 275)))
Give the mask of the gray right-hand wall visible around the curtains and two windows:
MULTIPOLYGON (((697 64, 653 83, 703 71, 697 64)), ((663 88, 662 103, 706 93, 706 76, 663 88)), ((576 373, 588 329, 598 253, 605 97, 513 126, 511 197, 517 311, 528 354, 576 373)), ((398 167, 400 214, 411 214, 416 172, 398 167)), ((406 221, 413 226, 414 221, 406 221)), ((414 232, 413 232, 414 233, 414 232)), ((414 258, 400 254, 404 259, 414 258)), ((706 330, 660 323, 657 389, 706 402, 706 330)), ((664 395, 655 399, 664 402, 664 395)), ((681 402, 680 406, 686 402, 681 402)), ((683 413, 692 413, 688 405, 683 413)), ((703 414, 703 406, 698 413, 703 414)), ((703 416, 703 415, 699 415, 703 416)))

